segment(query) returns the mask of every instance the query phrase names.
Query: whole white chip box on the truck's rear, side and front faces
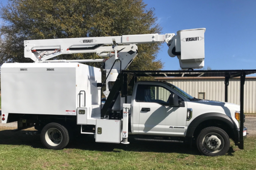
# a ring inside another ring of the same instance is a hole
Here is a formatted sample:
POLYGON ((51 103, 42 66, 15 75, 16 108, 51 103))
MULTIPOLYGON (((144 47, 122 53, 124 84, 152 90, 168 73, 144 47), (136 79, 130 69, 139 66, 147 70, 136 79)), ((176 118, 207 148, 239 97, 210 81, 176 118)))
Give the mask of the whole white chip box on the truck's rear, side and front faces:
POLYGON ((2 113, 76 115, 100 104, 100 82, 100 69, 81 63, 4 63, 2 113))

